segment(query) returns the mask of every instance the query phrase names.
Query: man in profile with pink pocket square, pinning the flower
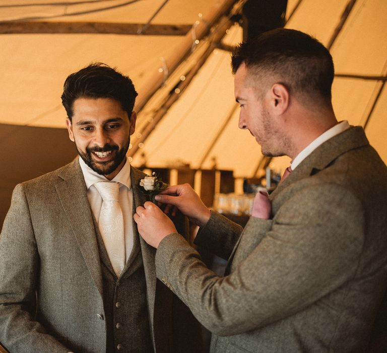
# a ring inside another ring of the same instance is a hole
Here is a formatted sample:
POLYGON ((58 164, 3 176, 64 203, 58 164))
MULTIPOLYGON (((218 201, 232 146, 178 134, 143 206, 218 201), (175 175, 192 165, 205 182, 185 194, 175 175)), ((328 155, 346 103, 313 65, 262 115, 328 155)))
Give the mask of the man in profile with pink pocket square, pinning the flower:
POLYGON ((239 128, 291 169, 255 198, 244 229, 188 185, 156 197, 201 227, 195 243, 228 260, 224 276, 155 205, 138 207, 157 277, 213 332, 214 352, 364 351, 386 287, 387 168, 361 127, 337 122, 332 57, 317 40, 264 33, 237 48, 232 69, 239 128))

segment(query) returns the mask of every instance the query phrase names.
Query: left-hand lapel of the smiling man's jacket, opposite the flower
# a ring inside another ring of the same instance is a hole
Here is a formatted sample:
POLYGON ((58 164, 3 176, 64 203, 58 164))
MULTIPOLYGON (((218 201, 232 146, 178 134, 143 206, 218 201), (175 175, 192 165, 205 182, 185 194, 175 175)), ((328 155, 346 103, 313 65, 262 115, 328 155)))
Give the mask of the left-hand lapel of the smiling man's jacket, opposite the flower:
POLYGON ((102 273, 98 245, 85 180, 78 158, 62 169, 59 178, 55 188, 63 211, 68 218, 93 281, 102 296, 102 273))

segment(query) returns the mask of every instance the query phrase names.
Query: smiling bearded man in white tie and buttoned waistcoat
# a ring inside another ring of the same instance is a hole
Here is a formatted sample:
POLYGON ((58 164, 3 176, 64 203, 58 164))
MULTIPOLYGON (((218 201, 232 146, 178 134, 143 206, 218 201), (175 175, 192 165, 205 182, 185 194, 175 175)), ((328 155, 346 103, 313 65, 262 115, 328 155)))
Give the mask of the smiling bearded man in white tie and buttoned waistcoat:
MULTIPOLYGON (((15 188, 0 238, 0 341, 11 352, 201 351, 199 324, 156 279, 155 249, 133 221, 149 200, 126 159, 136 96, 104 64, 64 83, 79 157, 15 188)), ((183 217, 174 224, 186 234, 183 217)))

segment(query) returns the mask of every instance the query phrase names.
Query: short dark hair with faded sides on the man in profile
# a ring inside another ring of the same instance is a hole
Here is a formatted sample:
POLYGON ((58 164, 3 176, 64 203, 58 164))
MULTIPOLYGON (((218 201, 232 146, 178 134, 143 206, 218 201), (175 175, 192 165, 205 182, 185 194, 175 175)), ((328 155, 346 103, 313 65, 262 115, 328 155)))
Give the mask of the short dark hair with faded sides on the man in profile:
POLYGON ((314 95, 331 104, 332 56, 303 32, 278 28, 241 43, 231 58, 234 74, 242 63, 249 71, 278 76, 293 94, 314 95))

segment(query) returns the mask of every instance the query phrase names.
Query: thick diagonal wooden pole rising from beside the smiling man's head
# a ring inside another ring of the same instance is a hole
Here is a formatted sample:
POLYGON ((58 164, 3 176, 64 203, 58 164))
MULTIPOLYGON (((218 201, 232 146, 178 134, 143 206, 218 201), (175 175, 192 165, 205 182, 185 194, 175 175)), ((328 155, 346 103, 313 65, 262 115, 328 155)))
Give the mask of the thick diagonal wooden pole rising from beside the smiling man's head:
MULTIPOLYGON (((150 97, 162 86, 164 81, 170 76, 170 74, 185 60, 185 58, 192 51, 192 45, 195 45, 192 38, 195 40, 201 40, 211 30, 211 27, 219 21, 219 19, 230 12, 235 0, 225 0, 220 6, 213 7, 209 12, 207 18, 198 20, 195 25, 192 26, 179 47, 179 50, 175 50, 170 57, 163 58, 167 66, 167 72, 165 68, 160 68, 152 77, 149 78, 139 89, 139 96, 137 98, 135 110, 140 112, 150 97)), ((160 63, 161 64, 161 63, 160 63)))

